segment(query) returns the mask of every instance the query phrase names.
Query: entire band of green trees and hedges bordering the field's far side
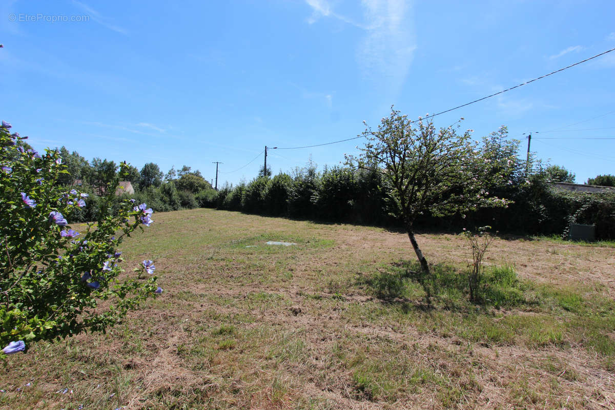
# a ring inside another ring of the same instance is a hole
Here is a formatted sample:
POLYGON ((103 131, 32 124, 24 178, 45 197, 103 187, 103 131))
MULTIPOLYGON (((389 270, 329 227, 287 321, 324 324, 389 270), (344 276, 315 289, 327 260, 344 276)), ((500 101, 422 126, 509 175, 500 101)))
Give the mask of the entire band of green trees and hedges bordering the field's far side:
MULTIPOLYGON (((520 141, 508 140, 506 128, 483 138, 480 144, 493 164, 512 158, 507 184, 493 186, 490 193, 514 201, 507 208, 478 209, 467 215, 434 218, 424 215, 418 221, 423 230, 461 231, 489 225, 493 230, 511 234, 566 235, 571 222, 596 224, 598 239, 615 239, 615 192, 589 194, 559 191, 552 183, 574 182, 574 174, 557 165, 544 167, 531 158, 518 157, 520 141)), ((96 219, 98 195, 114 178, 113 161, 98 158, 88 162, 77 152, 60 149, 67 173, 61 183, 81 184, 90 193, 89 206, 73 216, 76 221, 96 219)), ((490 167, 490 162, 485 167, 490 167)), ((495 171, 495 170, 494 170, 495 171)), ((184 166, 165 175, 158 165, 149 163, 141 170, 131 168, 129 180, 135 194, 131 198, 146 202, 154 211, 208 207, 243 211, 269 216, 314 219, 331 223, 359 223, 399 226, 399 211, 388 195, 390 187, 378 167, 354 169, 346 166, 325 167, 322 171, 311 161, 290 173, 271 176, 261 169, 249 182, 225 184, 216 191, 198 170, 184 166)), ((600 175, 588 183, 612 185, 615 178, 600 175)))

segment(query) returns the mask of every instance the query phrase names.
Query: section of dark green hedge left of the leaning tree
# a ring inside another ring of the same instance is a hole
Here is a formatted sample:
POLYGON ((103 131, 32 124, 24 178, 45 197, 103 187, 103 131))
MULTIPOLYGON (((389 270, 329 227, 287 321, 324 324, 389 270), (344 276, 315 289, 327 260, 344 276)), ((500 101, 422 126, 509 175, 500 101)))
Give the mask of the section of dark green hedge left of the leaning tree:
POLYGON ((199 205, 331 222, 392 221, 379 173, 344 167, 325 168, 320 173, 312 164, 296 168, 292 175, 260 176, 249 183, 204 193, 199 196, 199 205))

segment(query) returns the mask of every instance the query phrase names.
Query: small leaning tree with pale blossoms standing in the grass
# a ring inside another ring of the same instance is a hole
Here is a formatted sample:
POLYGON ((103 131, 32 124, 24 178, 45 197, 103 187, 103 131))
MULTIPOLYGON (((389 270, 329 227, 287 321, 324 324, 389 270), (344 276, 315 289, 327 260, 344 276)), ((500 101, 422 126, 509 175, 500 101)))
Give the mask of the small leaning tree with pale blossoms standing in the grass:
MULTIPOLYGON (((365 122, 364 122, 365 124, 365 122)), ((374 131, 365 124, 365 148, 359 157, 347 156, 360 168, 382 173, 392 187, 391 199, 399 212, 421 269, 429 272, 415 239, 414 223, 425 213, 464 215, 478 207, 505 207, 507 201, 490 196, 487 187, 504 184, 510 159, 492 158, 477 149, 470 130, 458 135, 453 127, 436 130, 419 117, 413 122, 391 107, 391 115, 374 131)))

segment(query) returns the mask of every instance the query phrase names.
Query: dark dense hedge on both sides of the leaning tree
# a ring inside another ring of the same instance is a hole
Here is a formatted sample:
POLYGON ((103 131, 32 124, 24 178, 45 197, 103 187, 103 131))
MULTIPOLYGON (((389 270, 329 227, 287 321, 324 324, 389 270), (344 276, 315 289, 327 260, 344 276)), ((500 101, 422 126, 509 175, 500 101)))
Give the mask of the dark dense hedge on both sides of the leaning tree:
MULTIPOLYGON (((419 227, 460 231, 464 227, 489 225, 512 234, 565 236, 569 224, 574 222, 595 224, 598 239, 615 239, 615 194, 557 191, 542 173, 500 190, 498 195, 514 201, 507 208, 485 208, 452 218, 425 215, 418 221, 419 227)), ((217 192, 199 192, 197 199, 200 207, 395 226, 399 224, 397 210, 387 192, 376 171, 333 167, 317 172, 309 164, 296 168, 292 175, 260 176, 234 187, 224 186, 217 192)))

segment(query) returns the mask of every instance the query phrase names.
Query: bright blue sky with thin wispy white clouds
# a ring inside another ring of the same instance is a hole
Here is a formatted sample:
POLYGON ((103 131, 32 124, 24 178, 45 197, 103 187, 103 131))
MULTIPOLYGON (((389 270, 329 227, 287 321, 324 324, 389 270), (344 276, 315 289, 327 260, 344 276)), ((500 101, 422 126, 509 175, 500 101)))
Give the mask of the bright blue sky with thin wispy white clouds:
MULTIPOLYGON (((236 184, 265 145, 351 138, 391 104, 416 118, 611 49, 613 16, 610 0, 5 0, 0 117, 36 149, 209 180, 220 161, 220 183, 236 184)), ((434 123, 464 117, 476 138, 507 125, 523 150, 533 132, 532 151, 582 183, 615 174, 615 139, 539 138, 615 138, 614 79, 612 52, 434 123)), ((268 164, 322 170, 357 144, 271 150, 268 164)))

